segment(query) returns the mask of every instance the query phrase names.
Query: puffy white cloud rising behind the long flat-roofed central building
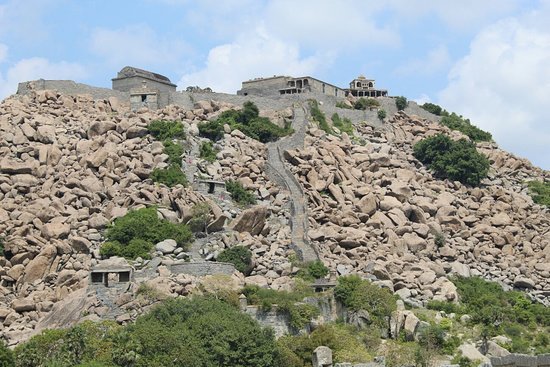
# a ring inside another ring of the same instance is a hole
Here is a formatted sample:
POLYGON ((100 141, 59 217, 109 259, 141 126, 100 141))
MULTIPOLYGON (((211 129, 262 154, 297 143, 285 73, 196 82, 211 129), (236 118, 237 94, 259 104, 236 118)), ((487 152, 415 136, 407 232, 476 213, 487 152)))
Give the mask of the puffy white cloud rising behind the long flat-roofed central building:
POLYGON ((297 45, 285 43, 258 28, 241 34, 232 43, 211 49, 205 67, 183 75, 178 86, 180 89, 208 86, 216 92, 235 93, 243 80, 275 74, 312 74, 331 62, 329 55, 301 58, 297 45))

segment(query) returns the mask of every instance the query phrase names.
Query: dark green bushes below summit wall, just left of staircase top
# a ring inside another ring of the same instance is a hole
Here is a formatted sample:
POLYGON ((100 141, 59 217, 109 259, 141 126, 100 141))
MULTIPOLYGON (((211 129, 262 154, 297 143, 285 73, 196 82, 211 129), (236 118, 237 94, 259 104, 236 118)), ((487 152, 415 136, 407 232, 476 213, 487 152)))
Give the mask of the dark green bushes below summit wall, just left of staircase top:
POLYGON ((290 126, 282 128, 268 118, 260 117, 258 107, 253 102, 247 101, 240 111, 224 111, 217 119, 200 124, 199 135, 217 141, 223 137, 223 126, 225 124, 229 125, 231 130, 238 129, 246 136, 262 143, 275 141, 293 132, 290 126))

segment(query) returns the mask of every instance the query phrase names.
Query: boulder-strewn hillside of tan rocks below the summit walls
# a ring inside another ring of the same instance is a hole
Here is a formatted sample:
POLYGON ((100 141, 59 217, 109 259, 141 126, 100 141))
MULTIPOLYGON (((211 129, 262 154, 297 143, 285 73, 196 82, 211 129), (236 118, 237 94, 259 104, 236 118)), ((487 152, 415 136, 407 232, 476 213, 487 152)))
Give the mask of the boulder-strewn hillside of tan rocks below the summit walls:
MULTIPOLYGON (((290 224, 302 223, 298 233, 307 234, 306 244, 327 266, 370 277, 412 304, 456 299, 447 280, 453 273, 498 280, 548 302, 550 213, 533 203, 525 186, 526 180, 548 179, 548 172, 494 144, 481 144, 478 149, 491 161, 490 177, 470 188, 434 179, 413 158, 412 145, 425 136, 442 131, 459 136, 435 122, 405 113, 376 128, 354 121, 363 145, 346 134, 326 135, 307 123, 307 115, 295 113, 301 118, 295 126, 303 124, 303 147, 280 144, 285 170, 300 186, 291 195, 288 185, 266 173, 272 163, 268 147, 239 131, 226 131, 215 162, 198 157, 197 124, 230 107, 201 101, 193 109, 131 112, 114 97, 94 100, 55 91, 0 104, 4 336, 16 342, 52 310, 59 312, 61 301, 82 297, 86 292, 76 291, 88 287, 106 226, 149 205, 157 205, 165 219, 186 222, 193 205, 208 203, 209 224, 222 231, 197 239, 191 255, 213 259, 235 244, 251 248, 255 268, 248 277, 235 274, 236 285, 287 288, 297 271, 290 262, 296 232, 290 224), (168 159, 162 143, 147 133, 148 123, 157 119, 182 121, 188 135, 183 166, 191 178, 239 180, 259 205, 243 209, 227 193, 154 184, 149 174, 168 159), (305 218, 296 221, 291 206, 298 201, 305 218)), ((282 120, 292 110, 262 113, 282 120)), ((142 280, 164 293, 187 294, 197 280, 170 273, 168 266, 181 260, 176 255, 155 253, 160 266, 142 280)), ((79 307, 101 316, 101 300, 91 296, 79 307)), ((128 316, 121 321, 141 312, 131 297, 119 296, 117 306, 128 316)))

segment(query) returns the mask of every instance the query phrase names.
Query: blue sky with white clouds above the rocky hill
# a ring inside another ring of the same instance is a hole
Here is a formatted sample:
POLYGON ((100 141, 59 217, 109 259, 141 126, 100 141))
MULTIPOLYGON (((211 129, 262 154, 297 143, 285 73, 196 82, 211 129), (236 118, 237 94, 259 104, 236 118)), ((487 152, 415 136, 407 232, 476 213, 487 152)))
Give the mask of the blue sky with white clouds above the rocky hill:
POLYGON ((0 98, 39 78, 111 87, 127 65, 227 93, 362 74, 550 170, 548 19, 550 0, 0 0, 0 98))

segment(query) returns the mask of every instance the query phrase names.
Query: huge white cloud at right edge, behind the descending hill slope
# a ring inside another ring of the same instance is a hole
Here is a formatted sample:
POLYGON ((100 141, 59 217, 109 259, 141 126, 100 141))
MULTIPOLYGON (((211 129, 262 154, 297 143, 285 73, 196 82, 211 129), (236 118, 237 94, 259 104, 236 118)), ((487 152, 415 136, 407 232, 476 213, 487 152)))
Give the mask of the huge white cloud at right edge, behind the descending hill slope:
POLYGON ((449 74, 440 103, 490 131, 501 147, 550 169, 547 8, 482 30, 449 74))

